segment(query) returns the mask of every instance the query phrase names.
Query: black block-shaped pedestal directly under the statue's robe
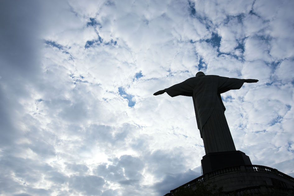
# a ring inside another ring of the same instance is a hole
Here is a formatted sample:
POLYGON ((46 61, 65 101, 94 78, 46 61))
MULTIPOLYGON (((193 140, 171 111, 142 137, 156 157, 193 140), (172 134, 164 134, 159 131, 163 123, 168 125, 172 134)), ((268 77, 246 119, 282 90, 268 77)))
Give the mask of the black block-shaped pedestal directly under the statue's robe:
POLYGON ((201 160, 203 175, 225 167, 252 165, 249 156, 241 151, 210 152, 201 160))

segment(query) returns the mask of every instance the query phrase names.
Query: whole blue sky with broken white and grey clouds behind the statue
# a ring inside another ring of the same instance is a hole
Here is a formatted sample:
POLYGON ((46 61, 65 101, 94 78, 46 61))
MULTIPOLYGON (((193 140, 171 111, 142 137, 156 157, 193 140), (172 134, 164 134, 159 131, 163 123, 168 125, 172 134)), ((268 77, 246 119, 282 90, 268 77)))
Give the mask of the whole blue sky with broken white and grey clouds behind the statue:
POLYGON ((0 195, 162 196, 201 175, 198 71, 237 150, 294 176, 294 1, 1 1, 0 195))

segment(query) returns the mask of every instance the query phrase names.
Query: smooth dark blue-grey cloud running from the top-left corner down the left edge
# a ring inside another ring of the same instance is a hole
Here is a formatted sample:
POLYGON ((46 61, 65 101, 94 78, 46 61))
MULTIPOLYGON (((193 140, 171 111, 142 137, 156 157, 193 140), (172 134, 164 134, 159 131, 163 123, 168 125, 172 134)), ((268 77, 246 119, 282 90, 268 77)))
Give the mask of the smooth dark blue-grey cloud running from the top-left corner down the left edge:
POLYGON ((18 99, 29 96, 26 85, 33 83, 41 71, 41 42, 36 39, 40 7, 38 1, 0 2, 0 145, 20 137, 14 125, 19 117, 16 111, 22 111, 18 99))

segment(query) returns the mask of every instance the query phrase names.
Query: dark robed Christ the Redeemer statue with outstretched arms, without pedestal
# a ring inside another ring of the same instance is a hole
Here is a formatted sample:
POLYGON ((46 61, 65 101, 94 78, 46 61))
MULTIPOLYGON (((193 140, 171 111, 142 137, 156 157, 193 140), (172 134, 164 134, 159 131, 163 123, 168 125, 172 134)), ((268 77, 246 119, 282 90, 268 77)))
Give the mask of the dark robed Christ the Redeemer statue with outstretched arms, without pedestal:
POLYGON ((225 106, 221 93, 240 89, 244 82, 258 82, 254 79, 237 79, 198 72, 184 82, 171 86, 153 95, 167 93, 193 97, 194 109, 200 136, 203 138, 205 154, 209 152, 236 151, 225 117, 225 106))

